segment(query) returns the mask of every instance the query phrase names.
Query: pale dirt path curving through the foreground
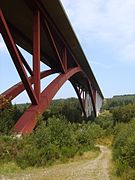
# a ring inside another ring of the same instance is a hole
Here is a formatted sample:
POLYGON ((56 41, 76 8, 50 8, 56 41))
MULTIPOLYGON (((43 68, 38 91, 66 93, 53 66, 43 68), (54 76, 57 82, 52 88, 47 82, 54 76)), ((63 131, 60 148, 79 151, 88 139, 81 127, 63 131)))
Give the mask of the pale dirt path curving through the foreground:
MULTIPOLYGON (((109 165, 111 151, 106 146, 100 146, 101 154, 94 160, 81 160, 67 164, 54 165, 19 179, 34 180, 109 180, 109 165)), ((18 177, 14 177, 18 179, 18 177)))

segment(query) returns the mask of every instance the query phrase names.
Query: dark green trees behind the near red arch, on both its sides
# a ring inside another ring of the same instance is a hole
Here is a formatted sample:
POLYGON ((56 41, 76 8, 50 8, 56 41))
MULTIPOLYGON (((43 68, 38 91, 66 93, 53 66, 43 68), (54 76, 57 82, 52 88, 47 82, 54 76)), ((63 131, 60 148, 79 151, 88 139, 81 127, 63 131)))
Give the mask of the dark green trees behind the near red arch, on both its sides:
MULTIPOLYGON (((29 104, 17 104, 8 106, 0 111, 0 134, 9 134, 14 124, 29 104)), ((76 98, 59 99, 52 101, 49 108, 43 113, 43 120, 47 121, 49 117, 64 116, 70 122, 83 122, 80 104, 76 98)))

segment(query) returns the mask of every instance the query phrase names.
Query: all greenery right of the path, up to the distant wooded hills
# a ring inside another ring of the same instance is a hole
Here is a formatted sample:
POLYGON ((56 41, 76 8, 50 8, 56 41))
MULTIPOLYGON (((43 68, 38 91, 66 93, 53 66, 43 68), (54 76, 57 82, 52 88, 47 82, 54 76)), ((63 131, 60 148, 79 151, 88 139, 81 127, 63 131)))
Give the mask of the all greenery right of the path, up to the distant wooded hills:
POLYGON ((113 160, 116 175, 122 180, 135 179, 135 95, 105 99, 103 113, 96 119, 114 136, 113 160), (110 120, 110 121, 109 121, 110 120), (109 125, 110 124, 110 125, 109 125), (113 127, 113 128, 112 128, 113 127))

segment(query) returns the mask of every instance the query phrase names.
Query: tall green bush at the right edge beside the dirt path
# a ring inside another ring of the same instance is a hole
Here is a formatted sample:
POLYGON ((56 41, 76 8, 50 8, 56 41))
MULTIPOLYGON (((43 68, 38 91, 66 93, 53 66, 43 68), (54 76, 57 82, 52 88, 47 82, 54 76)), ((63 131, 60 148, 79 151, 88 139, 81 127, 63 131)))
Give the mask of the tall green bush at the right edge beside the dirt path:
POLYGON ((135 119, 116 127, 113 142, 113 158, 117 164, 117 174, 127 169, 135 170, 135 119))

